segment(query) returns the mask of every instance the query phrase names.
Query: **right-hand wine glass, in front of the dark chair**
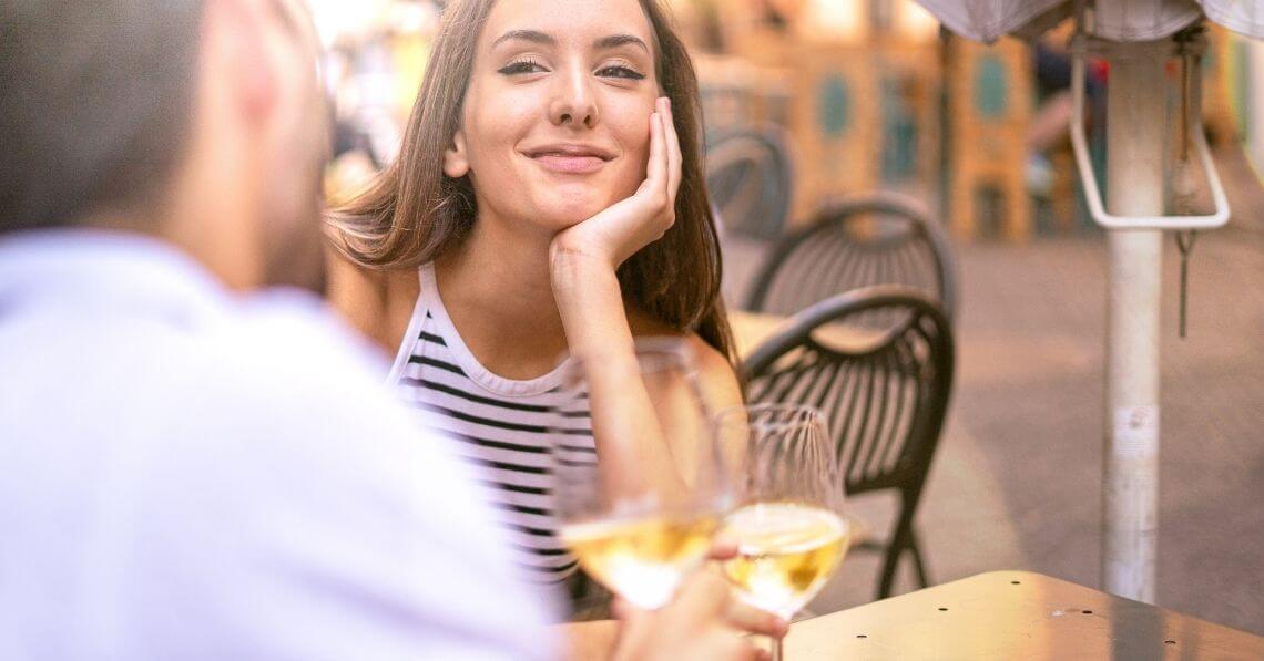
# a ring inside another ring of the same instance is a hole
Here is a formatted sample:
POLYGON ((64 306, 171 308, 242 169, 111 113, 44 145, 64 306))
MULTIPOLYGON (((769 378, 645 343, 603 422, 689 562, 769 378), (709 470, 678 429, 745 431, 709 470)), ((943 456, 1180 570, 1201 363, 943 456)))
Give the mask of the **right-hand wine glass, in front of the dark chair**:
MULTIPOLYGON (((799 405, 744 406, 719 414, 717 430, 722 443, 747 448, 738 505, 723 526, 737 544, 724 575, 743 602, 789 621, 842 564, 851 537, 825 416, 799 405)), ((772 657, 781 658, 781 641, 772 657)))

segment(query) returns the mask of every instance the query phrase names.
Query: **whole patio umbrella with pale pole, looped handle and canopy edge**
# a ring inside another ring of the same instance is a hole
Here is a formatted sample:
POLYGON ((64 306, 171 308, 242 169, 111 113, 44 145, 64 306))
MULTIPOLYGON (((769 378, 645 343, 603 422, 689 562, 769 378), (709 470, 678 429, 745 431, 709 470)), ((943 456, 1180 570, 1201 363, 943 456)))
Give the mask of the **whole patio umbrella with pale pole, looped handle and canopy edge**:
MULTIPOLYGON (((1074 15, 1071 44, 1074 116, 1072 146, 1093 219, 1107 230, 1110 303, 1106 337, 1102 587, 1154 602, 1159 500, 1159 295, 1163 231, 1222 226, 1229 203, 1211 160, 1198 112, 1203 18, 1264 38, 1264 0, 918 0, 952 32, 982 42, 1038 34, 1074 15), (1083 130, 1085 58, 1110 62, 1105 202, 1083 130), (1179 135, 1168 135, 1165 66, 1182 62, 1179 135), (1179 156, 1165 172, 1169 140, 1179 156), (1197 165, 1196 160, 1197 159, 1197 165), (1187 212, 1200 188, 1210 214, 1164 214, 1165 199, 1187 212)), ((1178 235, 1182 251, 1188 243, 1178 235)))

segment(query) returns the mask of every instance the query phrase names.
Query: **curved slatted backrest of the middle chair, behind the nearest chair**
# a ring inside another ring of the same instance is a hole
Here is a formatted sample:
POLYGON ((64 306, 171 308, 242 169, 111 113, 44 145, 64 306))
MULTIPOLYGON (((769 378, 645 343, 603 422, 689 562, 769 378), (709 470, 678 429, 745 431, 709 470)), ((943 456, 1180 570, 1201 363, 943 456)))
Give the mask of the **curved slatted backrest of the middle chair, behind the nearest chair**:
POLYGON ((957 308, 956 265, 947 237, 924 206, 897 193, 873 193, 824 206, 785 236, 755 278, 746 308, 794 314, 834 294, 905 285, 957 308))

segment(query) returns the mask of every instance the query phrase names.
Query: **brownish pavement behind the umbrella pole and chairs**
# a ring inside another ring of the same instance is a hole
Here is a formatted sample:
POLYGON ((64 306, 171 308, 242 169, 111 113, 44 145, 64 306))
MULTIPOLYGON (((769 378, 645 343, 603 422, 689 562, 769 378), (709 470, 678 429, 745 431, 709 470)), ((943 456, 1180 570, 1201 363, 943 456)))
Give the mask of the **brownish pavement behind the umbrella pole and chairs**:
MULTIPOLYGON (((1165 238, 1157 603, 1264 635, 1264 190, 1241 168, 1222 170, 1234 219, 1191 257, 1186 339, 1165 238)), ((1106 237, 956 250, 958 373, 918 515, 932 579, 1021 569, 1100 588, 1106 237)), ((765 251, 729 243, 726 296, 765 251)), ((894 501, 849 506, 885 530, 894 501)), ((853 554, 809 609, 867 603, 877 570, 853 554)))

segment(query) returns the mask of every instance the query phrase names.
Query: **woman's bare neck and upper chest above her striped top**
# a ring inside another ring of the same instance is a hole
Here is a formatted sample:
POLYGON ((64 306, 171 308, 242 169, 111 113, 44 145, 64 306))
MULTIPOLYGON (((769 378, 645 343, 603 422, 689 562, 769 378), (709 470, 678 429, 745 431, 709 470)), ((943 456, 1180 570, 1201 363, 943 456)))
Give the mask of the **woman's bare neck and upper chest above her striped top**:
POLYGON ((479 218, 463 245, 435 261, 453 324, 475 358, 507 378, 546 373, 566 351, 544 233, 479 218))

